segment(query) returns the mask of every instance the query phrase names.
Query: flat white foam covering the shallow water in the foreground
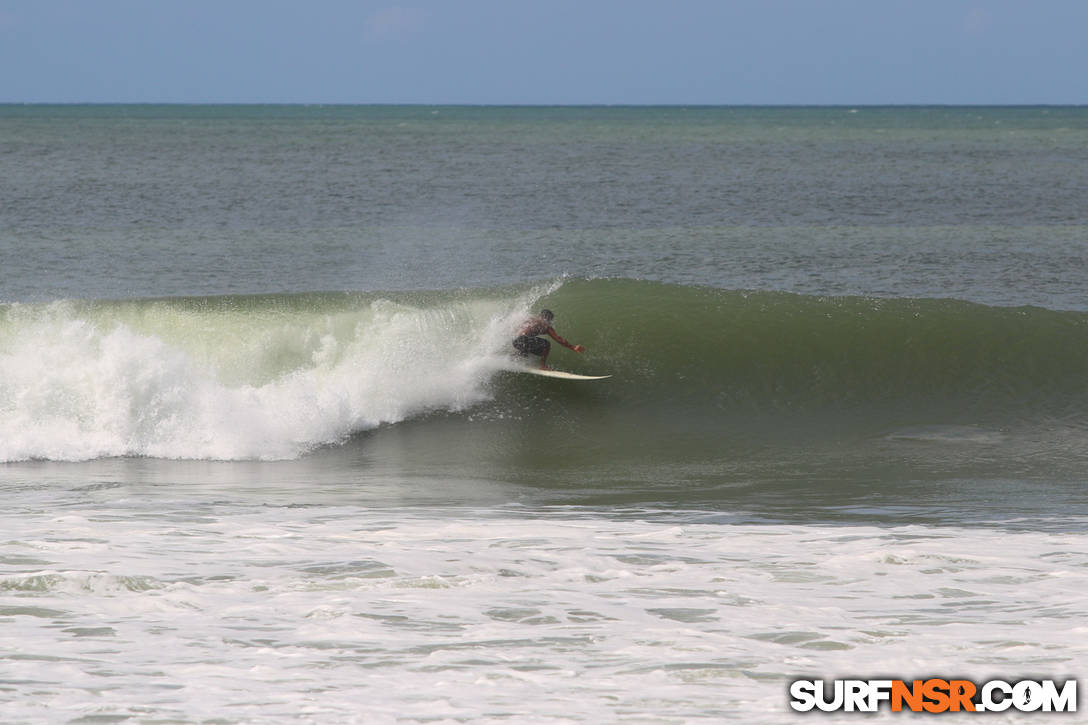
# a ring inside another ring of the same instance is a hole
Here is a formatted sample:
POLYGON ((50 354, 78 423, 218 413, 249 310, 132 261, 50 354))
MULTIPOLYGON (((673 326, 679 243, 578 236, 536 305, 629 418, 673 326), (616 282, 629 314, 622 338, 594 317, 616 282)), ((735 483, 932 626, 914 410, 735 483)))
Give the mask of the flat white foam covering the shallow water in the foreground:
POLYGON ((48 512, 0 517, 45 563, 0 577, 0 647, 27 655, 0 715, 778 722, 798 677, 1064 678, 1088 655, 1083 533, 214 511, 106 507, 77 533, 110 545, 67 551, 48 512))

